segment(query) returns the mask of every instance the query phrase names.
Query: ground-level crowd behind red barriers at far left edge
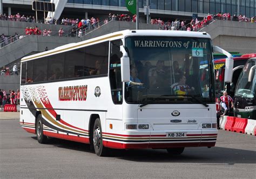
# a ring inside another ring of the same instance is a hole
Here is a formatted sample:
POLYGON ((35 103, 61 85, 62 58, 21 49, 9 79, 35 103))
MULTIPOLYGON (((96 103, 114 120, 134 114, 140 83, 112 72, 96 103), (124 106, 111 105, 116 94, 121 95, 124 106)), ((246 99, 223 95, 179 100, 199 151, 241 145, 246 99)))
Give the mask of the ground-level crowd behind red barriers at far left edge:
POLYGON ((15 92, 14 90, 9 90, 8 93, 4 89, 0 89, 0 109, 3 111, 4 105, 19 105, 20 104, 20 93, 19 89, 15 92))

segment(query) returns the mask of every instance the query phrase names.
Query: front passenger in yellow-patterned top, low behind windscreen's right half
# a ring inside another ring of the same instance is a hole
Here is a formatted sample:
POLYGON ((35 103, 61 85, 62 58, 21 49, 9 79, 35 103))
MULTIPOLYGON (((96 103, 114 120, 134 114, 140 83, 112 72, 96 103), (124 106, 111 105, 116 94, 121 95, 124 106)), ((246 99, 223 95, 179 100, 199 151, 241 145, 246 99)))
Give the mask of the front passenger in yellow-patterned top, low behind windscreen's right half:
POLYGON ((184 74, 179 75, 178 82, 173 84, 171 88, 174 94, 177 95, 186 95, 194 91, 194 87, 190 88, 188 85, 186 85, 186 77, 184 74))

